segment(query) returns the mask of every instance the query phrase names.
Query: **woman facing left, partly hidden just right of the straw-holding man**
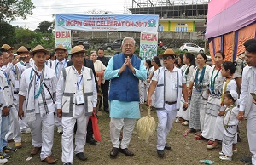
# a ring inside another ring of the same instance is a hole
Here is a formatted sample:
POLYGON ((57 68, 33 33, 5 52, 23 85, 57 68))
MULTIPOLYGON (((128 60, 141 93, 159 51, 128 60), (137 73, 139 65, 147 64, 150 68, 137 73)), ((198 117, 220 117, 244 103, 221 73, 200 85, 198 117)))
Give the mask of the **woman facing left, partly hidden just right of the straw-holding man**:
MULTIPOLYGON (((191 54, 191 53, 185 53, 183 55, 183 62, 184 62, 184 67, 185 69, 183 70, 183 76, 186 79, 186 83, 187 83, 187 87, 189 87, 189 83, 191 80, 191 77, 193 77, 193 71, 195 69, 195 55, 191 54)), ((191 95, 190 95, 191 96, 191 95)), ((189 96, 189 98, 190 98, 189 96)), ((183 97, 181 99, 182 102, 184 102, 183 97)), ((189 103, 190 103, 190 99, 189 99, 189 103)), ((182 122, 183 126, 187 126, 189 125, 189 108, 184 111, 183 107, 180 108, 180 110, 178 111, 178 119, 180 122, 182 122)))

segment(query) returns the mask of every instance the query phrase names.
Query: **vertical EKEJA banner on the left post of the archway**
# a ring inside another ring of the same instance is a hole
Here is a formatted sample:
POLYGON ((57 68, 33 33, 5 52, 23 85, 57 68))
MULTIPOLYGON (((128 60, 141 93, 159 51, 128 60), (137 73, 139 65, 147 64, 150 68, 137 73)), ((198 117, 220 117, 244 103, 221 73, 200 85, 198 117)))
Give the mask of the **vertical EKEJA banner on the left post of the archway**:
POLYGON ((71 31, 55 31, 55 47, 62 44, 67 51, 71 52, 71 31))

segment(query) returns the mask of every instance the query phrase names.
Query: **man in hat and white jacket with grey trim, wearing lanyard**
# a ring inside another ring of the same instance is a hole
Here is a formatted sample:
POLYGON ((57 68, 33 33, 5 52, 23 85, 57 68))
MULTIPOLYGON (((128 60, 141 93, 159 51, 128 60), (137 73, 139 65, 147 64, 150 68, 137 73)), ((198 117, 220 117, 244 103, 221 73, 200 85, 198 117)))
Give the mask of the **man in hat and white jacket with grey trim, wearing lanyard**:
POLYGON ((93 72, 84 67, 85 50, 75 46, 71 50, 73 65, 61 71, 56 92, 57 116, 62 117, 62 162, 73 164, 73 153, 82 161, 86 140, 86 128, 92 112, 96 112, 97 91, 93 72), (73 128, 77 122, 75 149, 73 128))

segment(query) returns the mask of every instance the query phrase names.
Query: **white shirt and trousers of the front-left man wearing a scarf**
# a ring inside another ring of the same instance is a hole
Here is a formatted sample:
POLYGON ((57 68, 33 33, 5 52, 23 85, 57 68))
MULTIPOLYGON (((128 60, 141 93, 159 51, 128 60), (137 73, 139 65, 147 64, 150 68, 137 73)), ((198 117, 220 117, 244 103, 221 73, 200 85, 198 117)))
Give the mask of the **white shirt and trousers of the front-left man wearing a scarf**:
MULTIPOLYGON (((35 70, 38 69, 35 67, 35 70)), ((19 95, 28 97, 28 87, 30 83, 30 75, 31 75, 31 68, 26 69, 20 79, 20 91, 19 95)), ((55 93, 56 91, 56 77, 53 70, 49 69, 49 67, 44 68, 44 83, 48 86, 49 91, 55 93)), ((38 71, 38 74, 40 72, 38 71)), ((32 87, 34 88, 34 87, 32 87)), ((45 87, 42 88, 44 90, 45 98, 51 98, 49 92, 45 87)), ((37 89, 35 90, 37 91, 37 89)), ((29 100, 26 100, 29 102, 29 100)), ((32 134, 32 145, 34 147, 41 147, 41 160, 44 160, 46 157, 51 155, 51 148, 53 146, 54 140, 54 112, 55 112, 55 104, 53 103, 52 99, 47 100, 47 106, 49 113, 46 114, 44 117, 41 117, 39 106, 38 106, 38 98, 34 100, 35 103, 35 111, 36 111, 36 120, 32 122, 27 122, 28 126, 31 128, 32 134)), ((25 105, 27 103, 25 102, 25 105)), ((29 103, 28 103, 29 104, 29 103)), ((26 110, 23 109, 24 116, 26 117, 26 110)))

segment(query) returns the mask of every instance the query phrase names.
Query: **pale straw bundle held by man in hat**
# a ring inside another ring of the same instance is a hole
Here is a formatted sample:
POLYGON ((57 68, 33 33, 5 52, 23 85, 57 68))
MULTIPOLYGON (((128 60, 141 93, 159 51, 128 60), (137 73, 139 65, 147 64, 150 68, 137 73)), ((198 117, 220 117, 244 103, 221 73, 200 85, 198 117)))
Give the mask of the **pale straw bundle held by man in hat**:
POLYGON ((139 137, 148 141, 148 138, 154 134, 156 123, 154 117, 150 115, 151 107, 148 107, 148 115, 137 121, 137 130, 139 137))

